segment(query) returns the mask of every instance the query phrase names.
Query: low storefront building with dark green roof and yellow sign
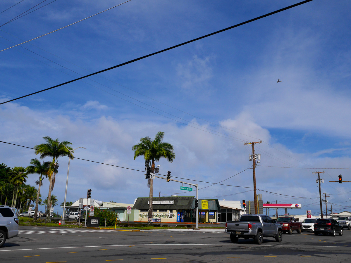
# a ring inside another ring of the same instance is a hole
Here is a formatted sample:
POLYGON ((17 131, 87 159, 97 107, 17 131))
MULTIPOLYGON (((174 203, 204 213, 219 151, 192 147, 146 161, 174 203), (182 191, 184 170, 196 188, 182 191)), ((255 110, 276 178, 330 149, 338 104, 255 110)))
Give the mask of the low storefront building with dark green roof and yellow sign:
MULTIPOLYGON (((177 223, 196 222, 194 196, 153 197, 153 222, 177 223)), ((148 221, 149 197, 138 197, 133 209, 139 210, 139 222, 148 221)), ((199 199, 198 222, 215 223, 217 212, 220 211, 217 199, 199 199)))

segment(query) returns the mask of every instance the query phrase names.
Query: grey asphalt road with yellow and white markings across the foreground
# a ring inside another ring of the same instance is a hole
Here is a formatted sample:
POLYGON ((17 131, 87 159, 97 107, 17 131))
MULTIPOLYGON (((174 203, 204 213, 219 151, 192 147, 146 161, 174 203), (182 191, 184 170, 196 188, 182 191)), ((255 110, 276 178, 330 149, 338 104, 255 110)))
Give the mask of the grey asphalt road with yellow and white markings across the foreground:
POLYGON ((0 262, 350 262, 351 230, 336 237, 303 232, 283 235, 283 242, 263 244, 221 230, 115 231, 22 227, 0 248, 0 262), (216 232, 214 232, 216 231, 216 232))

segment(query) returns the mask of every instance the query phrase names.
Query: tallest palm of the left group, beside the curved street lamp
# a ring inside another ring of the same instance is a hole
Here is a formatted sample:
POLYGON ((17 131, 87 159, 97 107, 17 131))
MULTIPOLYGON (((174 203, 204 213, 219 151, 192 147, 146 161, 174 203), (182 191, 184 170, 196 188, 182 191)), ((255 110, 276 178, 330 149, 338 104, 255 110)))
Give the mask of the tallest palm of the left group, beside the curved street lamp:
MULTIPOLYGON (((60 156, 69 156, 69 150, 72 150, 72 148, 70 147, 72 143, 68 141, 63 141, 59 143, 58 142, 59 139, 56 139, 54 141, 49 136, 44 136, 43 139, 46 141, 46 143, 38 144, 34 146, 34 149, 35 149, 35 154, 40 154, 40 159, 43 159, 46 156, 52 157, 52 162, 50 163, 50 168, 48 172, 48 178, 50 183, 49 183, 49 193, 48 193, 48 201, 47 201, 47 208, 46 208, 46 222, 49 222, 50 208, 51 208, 51 192, 52 192, 52 189, 54 188, 55 176, 58 173, 58 167, 59 167, 57 159, 60 156), (67 150, 65 146, 69 150, 67 150)), ((73 158, 74 158, 73 155, 71 155, 71 159, 73 158)))

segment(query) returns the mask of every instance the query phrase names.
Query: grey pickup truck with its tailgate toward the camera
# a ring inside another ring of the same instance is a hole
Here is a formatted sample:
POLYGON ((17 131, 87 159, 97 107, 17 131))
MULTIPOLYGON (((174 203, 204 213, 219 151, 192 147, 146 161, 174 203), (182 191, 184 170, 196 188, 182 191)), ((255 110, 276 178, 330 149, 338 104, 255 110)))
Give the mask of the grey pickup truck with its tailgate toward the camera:
POLYGON ((227 221, 225 232, 230 234, 233 243, 238 242, 239 237, 253 238, 256 244, 262 244, 263 237, 274 237, 277 242, 283 240, 282 225, 266 215, 246 214, 239 221, 227 221))

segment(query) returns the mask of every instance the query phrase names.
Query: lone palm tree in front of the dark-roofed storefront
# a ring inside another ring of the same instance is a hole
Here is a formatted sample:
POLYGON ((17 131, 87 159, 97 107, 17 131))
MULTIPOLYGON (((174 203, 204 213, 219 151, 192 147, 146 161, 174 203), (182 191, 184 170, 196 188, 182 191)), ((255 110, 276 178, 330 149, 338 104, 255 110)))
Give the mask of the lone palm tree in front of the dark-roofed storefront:
MULTIPOLYGON (((161 158, 166 158, 168 162, 173 162, 173 159, 176 155, 173 152, 173 146, 170 143, 163 142, 164 134, 162 131, 159 131, 154 140, 152 141, 150 137, 140 138, 140 143, 134 145, 132 150, 134 151, 134 160, 143 155, 145 159, 145 166, 151 166, 151 173, 155 170, 155 161, 159 162, 161 158)), ((147 181, 148 187, 150 187, 149 194, 149 213, 148 217, 152 218, 152 179, 147 181)))

